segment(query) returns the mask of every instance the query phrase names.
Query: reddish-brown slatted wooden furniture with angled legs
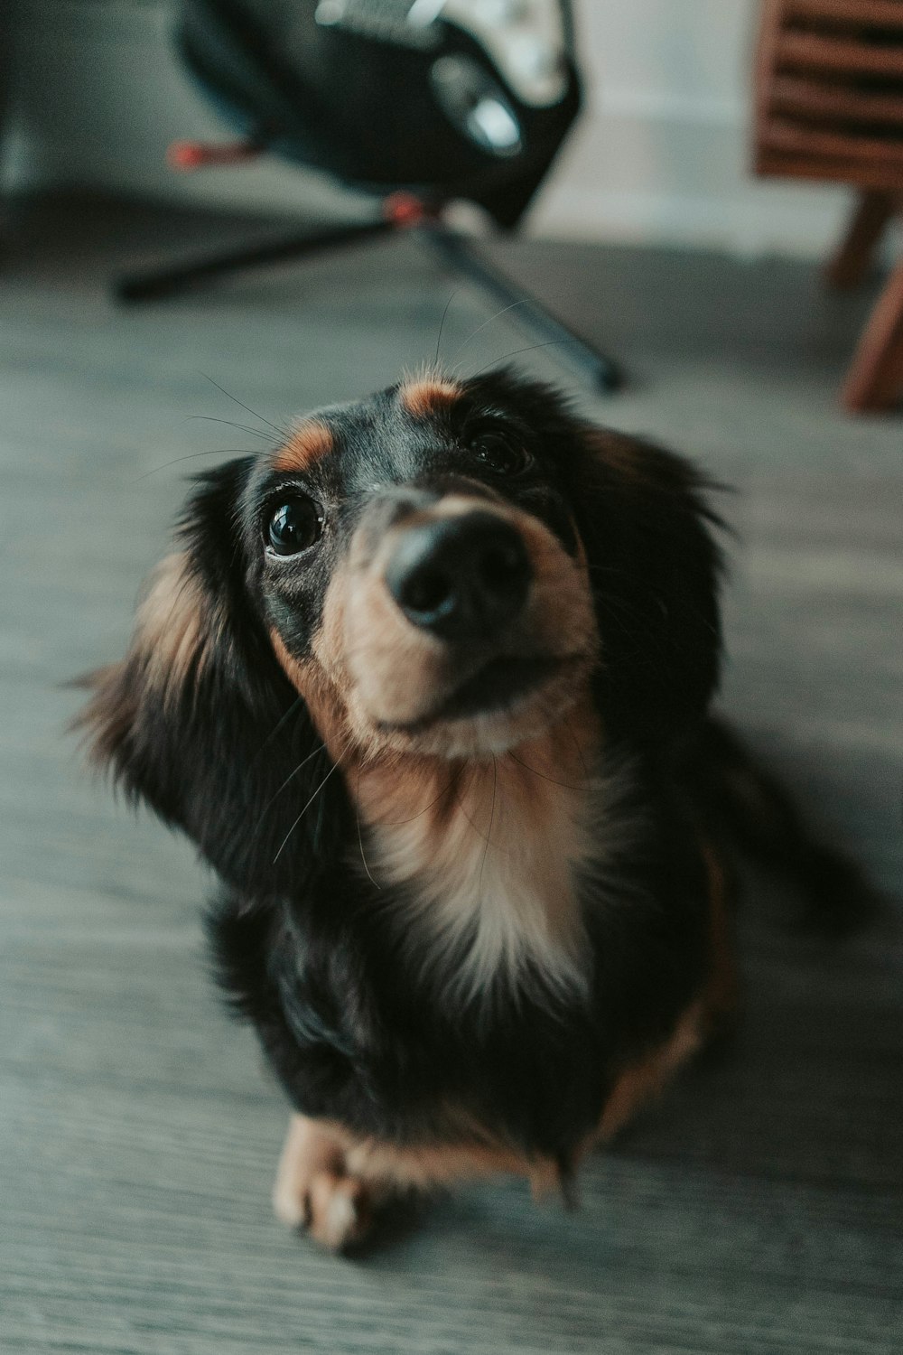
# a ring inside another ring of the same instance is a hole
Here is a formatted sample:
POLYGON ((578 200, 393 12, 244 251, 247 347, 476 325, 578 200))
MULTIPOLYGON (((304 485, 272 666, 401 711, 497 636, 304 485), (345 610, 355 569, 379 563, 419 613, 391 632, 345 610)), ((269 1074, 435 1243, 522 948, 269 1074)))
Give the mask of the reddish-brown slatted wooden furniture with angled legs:
MULTIPOLYGON (((826 270, 865 276, 903 213, 903 0, 765 0, 755 70, 755 169, 852 184, 858 202, 826 270)), ((903 260, 881 293, 843 386, 849 409, 903 396, 903 260)))

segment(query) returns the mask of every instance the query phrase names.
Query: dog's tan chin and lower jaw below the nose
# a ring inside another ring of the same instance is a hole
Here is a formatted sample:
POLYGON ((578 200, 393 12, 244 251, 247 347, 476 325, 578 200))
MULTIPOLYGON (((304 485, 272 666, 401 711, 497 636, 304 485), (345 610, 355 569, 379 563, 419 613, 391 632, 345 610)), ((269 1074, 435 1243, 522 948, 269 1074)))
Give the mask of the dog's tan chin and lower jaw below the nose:
POLYGON ((409 720, 372 718, 398 752, 489 757, 536 738, 574 705, 589 675, 582 654, 497 656, 409 720))

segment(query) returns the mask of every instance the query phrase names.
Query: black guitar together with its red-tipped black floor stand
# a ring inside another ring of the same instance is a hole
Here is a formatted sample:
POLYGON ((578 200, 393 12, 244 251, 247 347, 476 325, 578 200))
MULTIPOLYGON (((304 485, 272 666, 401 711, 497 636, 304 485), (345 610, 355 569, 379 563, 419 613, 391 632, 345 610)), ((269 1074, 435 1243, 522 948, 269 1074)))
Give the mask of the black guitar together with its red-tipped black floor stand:
POLYGON ((372 214, 130 275, 120 299, 413 229, 537 344, 560 346, 592 385, 617 385, 611 358, 445 220, 470 202, 512 230, 540 187, 579 108, 567 0, 183 0, 177 45, 242 140, 175 142, 175 168, 271 152, 371 195, 372 214))

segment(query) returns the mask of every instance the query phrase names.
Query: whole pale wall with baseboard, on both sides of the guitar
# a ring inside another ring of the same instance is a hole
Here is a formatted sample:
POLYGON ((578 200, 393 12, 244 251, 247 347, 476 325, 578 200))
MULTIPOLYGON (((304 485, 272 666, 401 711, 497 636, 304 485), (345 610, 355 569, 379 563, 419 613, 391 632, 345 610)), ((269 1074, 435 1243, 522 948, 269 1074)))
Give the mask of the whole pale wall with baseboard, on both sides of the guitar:
MULTIPOLYGON (((171 140, 223 136, 176 61, 167 0, 20 0, 19 14, 8 171, 19 183, 280 211, 329 201, 322 183, 275 161, 194 176, 165 168, 171 140)), ((823 253, 845 190, 747 172, 757 14, 758 0, 578 0, 589 106, 531 230, 823 253)))

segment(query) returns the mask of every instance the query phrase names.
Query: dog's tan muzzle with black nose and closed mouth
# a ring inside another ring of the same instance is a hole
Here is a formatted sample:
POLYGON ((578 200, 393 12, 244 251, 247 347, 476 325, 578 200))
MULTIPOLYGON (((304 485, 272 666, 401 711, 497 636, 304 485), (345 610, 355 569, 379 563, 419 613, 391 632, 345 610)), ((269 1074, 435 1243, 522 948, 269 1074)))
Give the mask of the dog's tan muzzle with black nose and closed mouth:
POLYGON ((546 728, 593 652, 579 561, 535 515, 459 482, 370 503, 314 648, 361 741, 445 757, 546 728))

